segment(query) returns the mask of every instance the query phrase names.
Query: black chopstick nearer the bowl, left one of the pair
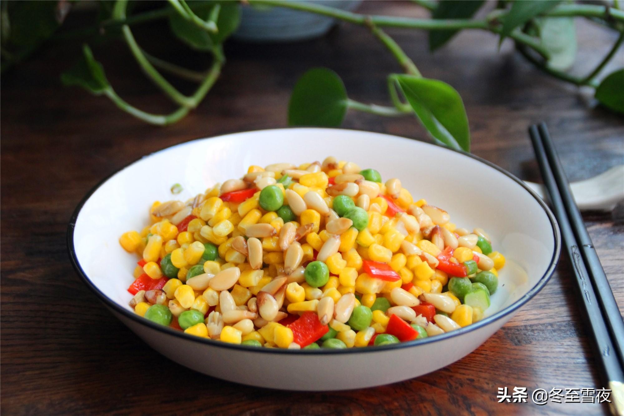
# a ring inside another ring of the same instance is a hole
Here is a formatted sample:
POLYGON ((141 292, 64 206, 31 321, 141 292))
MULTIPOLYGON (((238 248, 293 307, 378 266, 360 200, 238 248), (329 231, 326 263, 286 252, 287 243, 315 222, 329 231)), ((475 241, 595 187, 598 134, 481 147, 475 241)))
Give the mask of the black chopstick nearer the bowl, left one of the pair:
MULTIPOLYGON (((605 323, 600 304, 598 304, 598 298, 595 295, 592 282, 589 280, 590 275, 588 274, 585 260, 583 260, 580 254, 577 238, 574 234, 572 224, 568 219, 562 195, 557 187, 557 181, 555 181, 551 166, 548 164, 548 157, 546 156, 544 144, 542 143, 543 138, 540 136, 537 126, 529 127, 529 136, 533 142, 535 158, 537 159, 542 177, 544 178, 544 184, 548 190, 550 204, 555 213, 555 217, 557 217, 565 249, 572 262, 572 269, 576 278, 575 281, 580 290, 580 297, 595 344, 595 352, 597 352, 595 358, 597 362, 602 365, 603 374, 605 375, 605 386, 612 389, 614 393, 613 396, 615 396, 615 394, 617 394, 616 391, 622 389, 622 385, 618 383, 624 382, 624 370, 622 369, 622 363, 618 359, 618 354, 615 349, 615 345, 617 344, 612 339, 608 326, 605 323)), ((620 316, 619 312, 618 316, 620 316)), ((622 409, 615 408, 615 400, 612 400, 612 410, 615 414, 622 414, 622 409)))

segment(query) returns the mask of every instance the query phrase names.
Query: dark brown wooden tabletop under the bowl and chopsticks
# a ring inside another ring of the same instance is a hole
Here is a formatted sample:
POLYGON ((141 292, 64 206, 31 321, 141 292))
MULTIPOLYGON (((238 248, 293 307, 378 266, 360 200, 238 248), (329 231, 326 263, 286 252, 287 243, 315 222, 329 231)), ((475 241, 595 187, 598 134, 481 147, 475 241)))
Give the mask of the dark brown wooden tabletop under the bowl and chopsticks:
MULTIPOLYGON (((363 10, 422 15, 408 2, 366 2, 363 10)), ((70 15, 70 22, 79 17, 70 15)), ((585 92, 537 72, 510 44, 497 53, 494 36, 466 32, 432 55, 426 33, 390 32, 424 76, 449 82, 460 92, 478 156, 522 179, 540 181, 527 126, 545 121, 570 179, 622 163, 622 118, 592 108, 585 92)), ((587 22, 578 22, 578 34, 577 69, 582 71, 603 56, 614 38, 587 22)), ((137 28, 137 37, 160 56, 198 67, 205 63, 172 41, 162 24, 137 28), (158 28, 163 30, 154 31, 158 28)), ((163 147, 286 126, 291 88, 310 67, 331 67, 345 80, 349 96, 382 103, 387 100, 384 77, 398 68, 365 29, 346 24, 296 44, 232 41, 225 47, 223 75, 208 99, 186 119, 163 128, 122 114, 103 97, 62 87, 59 73, 75 59, 79 44, 53 44, 2 76, 2 414, 607 412, 598 404, 497 403, 498 387, 527 387, 529 392, 600 387, 565 254, 544 290, 475 352, 406 382, 346 392, 281 392, 213 379, 157 354, 100 304, 71 267, 67 222, 82 196, 103 177, 163 147)), ((124 44, 95 46, 94 51, 130 102, 152 111, 171 108, 140 74, 124 44)), ((622 63, 622 51, 617 60, 622 63)), ((344 127, 427 140, 411 117, 349 114, 344 127)), ((609 214, 585 215, 620 308, 623 219, 622 204, 609 214)))

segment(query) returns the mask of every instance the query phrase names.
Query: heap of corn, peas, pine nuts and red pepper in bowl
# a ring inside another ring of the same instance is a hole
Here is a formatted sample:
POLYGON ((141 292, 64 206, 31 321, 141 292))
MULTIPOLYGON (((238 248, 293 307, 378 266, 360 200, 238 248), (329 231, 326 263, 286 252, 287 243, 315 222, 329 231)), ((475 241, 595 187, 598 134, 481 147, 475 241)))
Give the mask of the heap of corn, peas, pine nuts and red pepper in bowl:
POLYGON ((149 214, 152 225, 119 240, 141 257, 130 306, 232 344, 342 349, 444 334, 482 319, 505 264, 482 229, 334 157, 250 166, 149 214))

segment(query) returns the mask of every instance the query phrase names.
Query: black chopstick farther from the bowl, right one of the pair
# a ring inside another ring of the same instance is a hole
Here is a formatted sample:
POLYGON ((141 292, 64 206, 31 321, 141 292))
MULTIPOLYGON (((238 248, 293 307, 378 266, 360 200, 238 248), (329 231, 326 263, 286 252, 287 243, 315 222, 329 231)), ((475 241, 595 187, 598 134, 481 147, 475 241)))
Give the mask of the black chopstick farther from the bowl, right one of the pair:
POLYGON ((600 304, 602 308, 603 317, 611 332, 613 347, 615 347, 620 362, 624 366, 624 321, 622 320, 622 315, 620 315, 620 309, 618 309, 618 305, 615 302, 613 290, 611 290, 607 275, 605 275, 605 270, 602 268, 600 259, 598 259, 598 254, 596 254, 596 250, 593 247, 592 239, 587 232, 583 217, 574 201, 568 178, 565 176, 561 161, 557 156, 557 151, 555 151, 555 146, 548 134, 546 124, 543 122, 540 123, 538 130, 540 132, 540 137, 542 137, 542 144, 544 144, 544 151, 548 158, 548 164, 555 177, 563 206, 568 214, 568 220, 572 225, 572 231, 575 237, 577 237, 578 250, 585 261, 585 266, 590 274, 590 280, 593 283, 598 304, 600 304))

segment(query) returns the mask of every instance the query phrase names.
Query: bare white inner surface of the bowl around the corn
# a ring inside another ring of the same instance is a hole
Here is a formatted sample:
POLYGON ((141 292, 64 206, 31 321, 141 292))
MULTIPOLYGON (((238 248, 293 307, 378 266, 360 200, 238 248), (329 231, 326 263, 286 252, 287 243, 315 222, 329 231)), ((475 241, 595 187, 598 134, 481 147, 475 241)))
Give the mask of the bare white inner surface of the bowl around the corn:
POLYGON ((542 204, 513 177, 460 152, 385 134, 341 129, 275 129, 200 139, 145 156, 110 177, 87 199, 74 228, 76 259, 109 299, 131 310, 137 257, 119 237, 148 224, 154 201, 186 199, 242 176, 252 164, 322 161, 326 156, 401 179, 414 200, 445 209, 457 227, 481 227, 507 265, 486 315, 521 299, 555 259, 556 226, 542 204), (170 187, 179 183, 181 194, 170 187))

